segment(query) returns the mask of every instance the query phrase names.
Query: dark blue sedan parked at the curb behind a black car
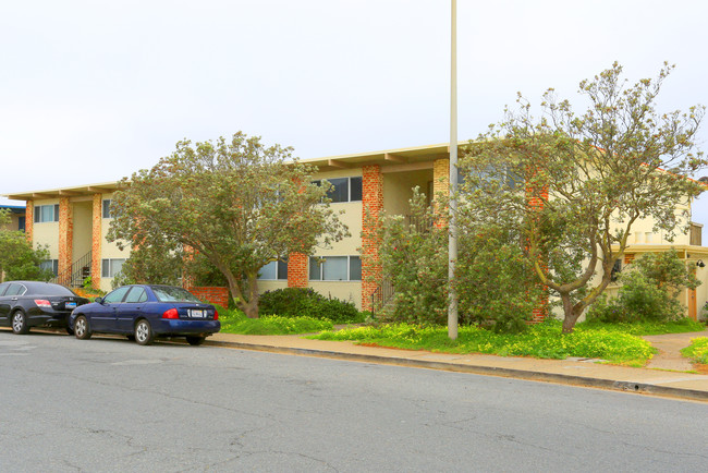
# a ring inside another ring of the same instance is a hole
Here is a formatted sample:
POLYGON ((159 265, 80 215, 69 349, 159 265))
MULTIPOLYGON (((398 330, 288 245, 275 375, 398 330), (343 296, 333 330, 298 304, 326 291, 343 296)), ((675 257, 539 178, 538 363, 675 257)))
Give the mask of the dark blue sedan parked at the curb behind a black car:
POLYGON ((202 344, 221 328, 213 305, 185 289, 157 284, 123 286, 96 298, 71 314, 69 326, 81 340, 119 333, 139 344, 150 344, 155 337, 186 337, 190 344, 202 344))

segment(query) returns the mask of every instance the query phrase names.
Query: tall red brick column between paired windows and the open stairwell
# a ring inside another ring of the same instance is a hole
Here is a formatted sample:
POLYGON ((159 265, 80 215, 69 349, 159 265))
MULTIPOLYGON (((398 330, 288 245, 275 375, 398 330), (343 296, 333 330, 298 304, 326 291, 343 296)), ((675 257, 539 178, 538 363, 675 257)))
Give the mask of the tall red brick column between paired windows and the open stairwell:
POLYGON ((381 283, 378 222, 383 213, 383 175, 378 165, 364 166, 362 195, 362 310, 371 310, 371 294, 381 283))

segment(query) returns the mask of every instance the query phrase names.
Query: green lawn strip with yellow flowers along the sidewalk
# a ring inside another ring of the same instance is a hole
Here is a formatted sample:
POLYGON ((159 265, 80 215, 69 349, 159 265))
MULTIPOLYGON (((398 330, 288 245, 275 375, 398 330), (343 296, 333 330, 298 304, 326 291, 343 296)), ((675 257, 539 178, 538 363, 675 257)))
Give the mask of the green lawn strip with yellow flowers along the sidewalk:
MULTIPOLYGON (((319 340, 350 340, 357 343, 445 353, 487 353, 501 356, 534 356, 563 360, 569 356, 601 359, 613 364, 644 366, 656 350, 643 335, 699 331, 705 325, 691 319, 671 323, 577 324, 573 333, 561 335, 561 322, 532 325, 524 333, 495 333, 461 326, 457 340, 448 338, 444 326, 384 324, 333 330, 332 323, 312 317, 265 315, 247 318, 240 311, 219 308, 221 331, 241 335, 310 335, 319 340)), ((697 349, 701 350, 701 349, 697 349)), ((708 357, 708 343, 703 349, 708 357)), ((693 356, 693 355, 689 355, 693 356)), ((705 362, 704 362, 705 363, 705 362)))

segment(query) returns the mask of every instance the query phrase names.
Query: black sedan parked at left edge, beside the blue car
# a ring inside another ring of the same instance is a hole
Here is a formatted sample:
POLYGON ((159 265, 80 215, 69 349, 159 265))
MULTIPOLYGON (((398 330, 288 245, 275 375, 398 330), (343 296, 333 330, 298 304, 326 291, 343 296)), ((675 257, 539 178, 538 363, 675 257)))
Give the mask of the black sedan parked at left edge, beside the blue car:
POLYGON ((9 281, 0 283, 0 325, 15 333, 27 333, 30 327, 69 328, 71 312, 87 304, 88 299, 71 289, 51 282, 9 281))

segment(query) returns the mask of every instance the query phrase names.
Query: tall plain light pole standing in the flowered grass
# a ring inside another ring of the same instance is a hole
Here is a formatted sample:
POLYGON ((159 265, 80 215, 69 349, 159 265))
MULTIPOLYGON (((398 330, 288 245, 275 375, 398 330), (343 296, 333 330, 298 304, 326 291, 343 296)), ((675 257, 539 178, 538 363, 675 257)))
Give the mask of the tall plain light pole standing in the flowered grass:
POLYGON ((448 237, 448 337, 457 338, 457 291, 452 281, 457 260, 457 1, 452 0, 452 60, 450 68, 450 235, 448 237))

